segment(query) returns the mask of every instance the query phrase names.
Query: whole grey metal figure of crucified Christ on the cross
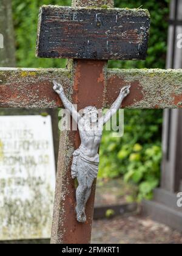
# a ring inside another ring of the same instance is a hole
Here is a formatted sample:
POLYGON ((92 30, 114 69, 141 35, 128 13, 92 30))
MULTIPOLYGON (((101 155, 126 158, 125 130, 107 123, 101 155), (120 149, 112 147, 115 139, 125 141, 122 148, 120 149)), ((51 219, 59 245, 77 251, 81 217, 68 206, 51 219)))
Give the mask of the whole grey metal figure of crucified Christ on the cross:
POLYGON ((116 101, 106 115, 98 117, 96 107, 86 107, 80 115, 74 105, 67 99, 61 84, 53 81, 53 90, 58 93, 64 107, 69 110, 78 124, 81 145, 73 152, 72 179, 78 180, 76 189, 76 218, 78 222, 86 222, 86 204, 92 191, 92 184, 98 174, 99 145, 103 134, 103 126, 121 107, 123 99, 130 93, 130 85, 122 88, 116 101))

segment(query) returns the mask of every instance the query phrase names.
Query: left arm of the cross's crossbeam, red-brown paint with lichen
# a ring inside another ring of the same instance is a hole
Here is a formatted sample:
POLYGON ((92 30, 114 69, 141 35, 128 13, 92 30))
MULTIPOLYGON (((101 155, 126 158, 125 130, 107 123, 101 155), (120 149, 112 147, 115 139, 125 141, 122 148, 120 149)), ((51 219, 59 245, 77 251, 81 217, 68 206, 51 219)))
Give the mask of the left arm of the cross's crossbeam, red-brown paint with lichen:
POLYGON ((52 88, 55 78, 72 94, 72 75, 66 69, 0 69, 0 107, 61 105, 52 88))

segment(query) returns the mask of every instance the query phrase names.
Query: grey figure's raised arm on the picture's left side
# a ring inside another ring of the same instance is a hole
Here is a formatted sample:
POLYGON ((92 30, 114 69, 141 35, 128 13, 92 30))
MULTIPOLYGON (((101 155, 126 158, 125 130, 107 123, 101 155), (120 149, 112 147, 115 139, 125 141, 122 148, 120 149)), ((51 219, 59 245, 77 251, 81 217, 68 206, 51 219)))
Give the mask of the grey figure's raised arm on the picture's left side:
POLYGON ((62 88, 61 84, 58 84, 56 81, 53 81, 53 90, 55 90, 56 93, 58 93, 59 97, 61 98, 62 104, 64 107, 70 111, 73 119, 76 121, 76 123, 79 121, 81 116, 79 113, 76 111, 74 105, 67 99, 64 90, 62 88))

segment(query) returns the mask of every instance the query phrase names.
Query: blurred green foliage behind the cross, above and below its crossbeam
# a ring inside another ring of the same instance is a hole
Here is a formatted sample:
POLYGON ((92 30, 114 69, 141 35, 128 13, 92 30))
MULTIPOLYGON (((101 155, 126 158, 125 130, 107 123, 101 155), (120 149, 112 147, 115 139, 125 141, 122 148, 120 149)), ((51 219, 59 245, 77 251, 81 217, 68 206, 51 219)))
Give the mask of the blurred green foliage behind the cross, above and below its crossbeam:
MULTIPOLYGON (((66 60, 35 57, 39 7, 43 4, 70 5, 71 0, 12 0, 19 67, 60 68, 66 60)), ((149 9, 150 40, 147 59, 110 61, 110 68, 165 68, 169 0, 115 0, 115 7, 149 9)), ((161 110, 124 110, 124 137, 104 131, 99 177, 124 176, 138 184, 138 200, 152 197, 160 180, 161 110)))

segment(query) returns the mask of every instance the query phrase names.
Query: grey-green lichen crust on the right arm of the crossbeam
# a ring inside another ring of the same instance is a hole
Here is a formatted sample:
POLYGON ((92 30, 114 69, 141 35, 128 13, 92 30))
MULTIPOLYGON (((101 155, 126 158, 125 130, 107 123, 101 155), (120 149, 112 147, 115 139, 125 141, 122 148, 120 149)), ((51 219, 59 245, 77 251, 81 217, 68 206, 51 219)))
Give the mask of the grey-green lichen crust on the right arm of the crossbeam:
POLYGON ((182 94, 181 69, 109 69, 108 79, 120 77, 126 84, 138 82, 143 99, 130 108, 177 108, 175 97, 182 94))

